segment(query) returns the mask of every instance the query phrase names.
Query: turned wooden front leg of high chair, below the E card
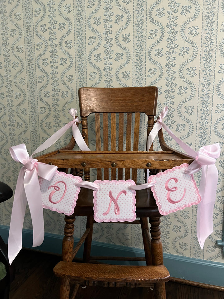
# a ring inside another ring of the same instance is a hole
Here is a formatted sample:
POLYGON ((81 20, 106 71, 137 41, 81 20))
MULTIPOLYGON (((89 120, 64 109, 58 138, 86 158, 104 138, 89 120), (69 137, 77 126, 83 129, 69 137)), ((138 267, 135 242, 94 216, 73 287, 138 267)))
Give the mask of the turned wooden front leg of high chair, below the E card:
MULTIPOLYGON (((152 265, 163 265, 163 251, 162 241, 160 239, 160 217, 149 218, 151 225, 150 234, 151 240, 151 253, 152 253, 152 265)), ((154 283, 154 295, 155 299, 166 299, 165 282, 154 283)))

